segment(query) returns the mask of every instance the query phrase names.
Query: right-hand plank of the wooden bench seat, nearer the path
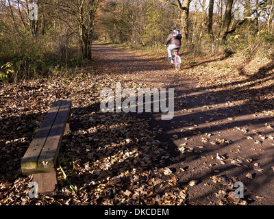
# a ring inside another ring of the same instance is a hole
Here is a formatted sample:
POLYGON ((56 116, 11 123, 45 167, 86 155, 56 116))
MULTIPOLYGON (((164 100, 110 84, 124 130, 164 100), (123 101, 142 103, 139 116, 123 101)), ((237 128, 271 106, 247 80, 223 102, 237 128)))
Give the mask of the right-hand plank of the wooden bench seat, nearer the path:
POLYGON ((69 120, 69 112, 71 110, 71 101, 62 101, 58 115, 55 118, 47 141, 44 144, 40 157, 38 159, 38 169, 41 172, 55 171, 56 161, 59 155, 62 136, 69 120))

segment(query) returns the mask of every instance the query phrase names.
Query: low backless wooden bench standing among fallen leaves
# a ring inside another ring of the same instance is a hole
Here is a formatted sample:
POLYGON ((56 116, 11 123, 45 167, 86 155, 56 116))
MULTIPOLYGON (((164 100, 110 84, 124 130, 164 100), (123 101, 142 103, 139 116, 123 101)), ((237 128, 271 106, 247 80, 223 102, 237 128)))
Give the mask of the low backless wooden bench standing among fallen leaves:
POLYGON ((71 101, 55 101, 21 160, 23 175, 33 175, 38 192, 57 188, 59 149, 64 131, 69 129, 71 101))

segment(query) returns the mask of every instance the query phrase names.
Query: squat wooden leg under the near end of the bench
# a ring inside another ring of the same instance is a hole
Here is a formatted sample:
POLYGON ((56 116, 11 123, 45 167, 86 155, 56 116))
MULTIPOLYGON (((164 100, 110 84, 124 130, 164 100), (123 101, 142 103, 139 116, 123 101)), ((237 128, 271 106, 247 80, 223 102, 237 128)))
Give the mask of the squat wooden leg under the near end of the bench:
POLYGON ((57 188, 56 172, 36 173, 34 181, 38 183, 38 192, 53 192, 57 188))

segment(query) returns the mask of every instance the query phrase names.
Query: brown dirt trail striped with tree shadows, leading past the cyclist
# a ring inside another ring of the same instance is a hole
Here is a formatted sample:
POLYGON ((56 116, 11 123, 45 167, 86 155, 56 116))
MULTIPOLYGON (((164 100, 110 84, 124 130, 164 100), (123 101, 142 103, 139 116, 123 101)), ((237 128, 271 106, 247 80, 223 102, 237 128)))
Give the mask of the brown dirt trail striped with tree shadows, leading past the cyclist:
MULTIPOLYGON (((188 188, 188 204, 234 203, 229 192, 236 189, 232 188, 236 181, 241 181, 245 188, 242 204, 273 205, 271 116, 256 112, 249 104, 239 104, 240 97, 229 88, 218 92, 198 86, 198 81, 186 76, 192 69, 184 68, 184 64, 178 74, 167 69, 163 60, 141 57, 107 44, 94 44, 93 51, 104 73, 121 75, 123 81, 135 80, 149 88, 175 89, 172 120, 161 120, 159 113, 134 116, 149 120, 151 129, 163 129, 157 138, 168 145, 171 155, 165 165, 173 170, 180 185, 196 181, 188 188)), ((116 82, 123 86, 123 81, 116 82)))

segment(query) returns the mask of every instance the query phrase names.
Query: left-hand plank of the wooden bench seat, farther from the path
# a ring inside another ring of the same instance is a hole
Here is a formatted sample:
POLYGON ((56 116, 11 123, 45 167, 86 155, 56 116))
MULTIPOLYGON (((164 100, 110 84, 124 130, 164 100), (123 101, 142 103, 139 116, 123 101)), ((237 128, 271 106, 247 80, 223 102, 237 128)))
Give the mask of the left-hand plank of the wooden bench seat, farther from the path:
POLYGON ((55 120, 58 111, 61 107, 62 101, 56 101, 53 103, 47 116, 43 120, 40 128, 38 129, 32 143, 29 145, 23 159, 21 160, 21 168, 22 172, 25 175, 29 174, 29 171, 38 168, 38 158, 42 151, 42 148, 47 140, 47 136, 51 130, 53 125, 53 121, 55 120))

